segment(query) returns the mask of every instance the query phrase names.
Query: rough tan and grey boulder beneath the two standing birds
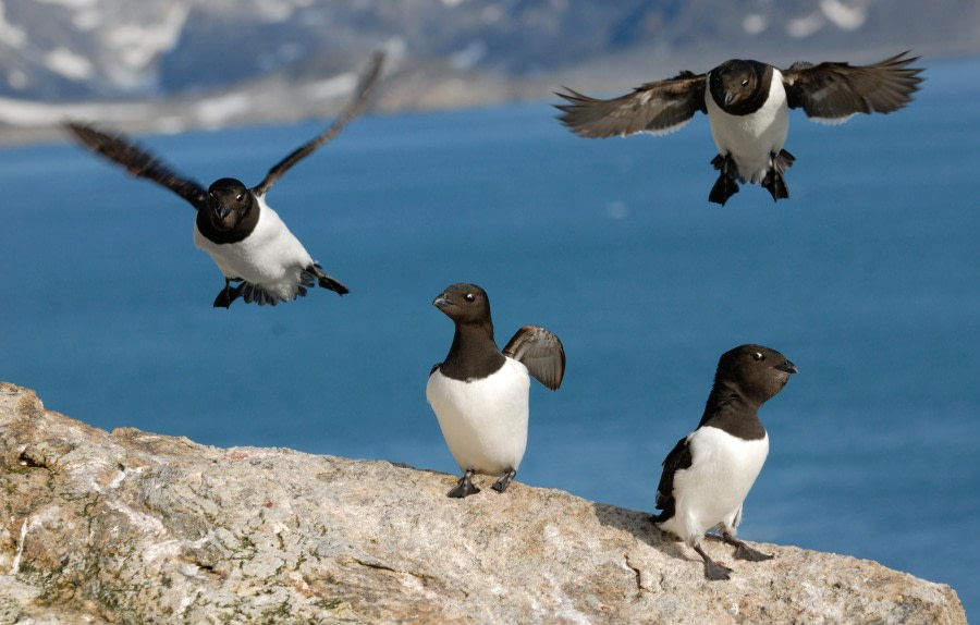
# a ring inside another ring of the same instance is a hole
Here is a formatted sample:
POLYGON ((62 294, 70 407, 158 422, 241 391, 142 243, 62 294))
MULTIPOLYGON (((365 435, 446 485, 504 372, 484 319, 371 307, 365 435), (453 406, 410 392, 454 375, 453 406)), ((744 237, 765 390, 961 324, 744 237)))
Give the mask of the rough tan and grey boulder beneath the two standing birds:
POLYGON ((0 623, 966 623, 952 588, 763 544, 706 581, 647 515, 515 483, 217 449, 0 383, 0 623), (481 483, 489 487, 489 482, 481 483))

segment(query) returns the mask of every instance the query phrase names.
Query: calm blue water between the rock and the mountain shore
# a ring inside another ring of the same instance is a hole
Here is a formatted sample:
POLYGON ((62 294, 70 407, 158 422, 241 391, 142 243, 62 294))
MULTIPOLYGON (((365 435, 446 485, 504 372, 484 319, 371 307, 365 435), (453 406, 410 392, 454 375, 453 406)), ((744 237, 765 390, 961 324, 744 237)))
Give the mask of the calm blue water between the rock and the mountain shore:
MULTIPOLYGON (((518 479, 650 511, 718 356, 758 342, 800 373, 762 409, 743 536, 948 583, 977 613, 978 70, 935 63, 892 115, 793 113, 779 205, 707 203, 705 119, 609 140, 547 102, 360 119, 269 195, 352 293, 275 308, 211 308, 223 281, 176 196, 72 145, 3 149, 0 379, 102 428, 456 473, 425 401, 452 338, 431 301, 476 282, 501 344, 539 323, 567 353, 518 479)), ((255 184, 322 124, 144 143, 255 184)))

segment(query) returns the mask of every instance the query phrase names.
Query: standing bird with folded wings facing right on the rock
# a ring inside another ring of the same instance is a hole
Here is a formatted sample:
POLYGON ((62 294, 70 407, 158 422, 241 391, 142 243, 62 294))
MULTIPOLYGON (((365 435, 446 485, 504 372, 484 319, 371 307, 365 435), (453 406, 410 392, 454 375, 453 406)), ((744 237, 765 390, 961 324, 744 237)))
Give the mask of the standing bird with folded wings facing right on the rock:
POLYGON ((650 519, 698 552, 708 579, 727 579, 732 571, 701 549, 701 538, 711 528, 721 529, 739 560, 772 557, 737 540, 735 530, 742 523, 742 503, 769 454, 769 434, 756 413, 796 372, 785 356, 761 345, 722 354, 698 429, 677 441, 663 461, 657 487, 657 508, 662 512, 650 519))

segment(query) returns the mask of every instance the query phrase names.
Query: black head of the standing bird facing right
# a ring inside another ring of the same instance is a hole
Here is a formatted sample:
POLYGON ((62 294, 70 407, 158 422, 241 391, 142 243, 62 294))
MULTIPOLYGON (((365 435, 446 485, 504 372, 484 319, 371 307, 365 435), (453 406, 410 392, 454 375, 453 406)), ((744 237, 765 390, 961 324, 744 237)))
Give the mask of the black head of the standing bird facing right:
POLYGON ((718 361, 715 384, 725 383, 761 405, 783 390, 796 365, 775 350, 762 345, 739 345, 722 354, 718 361))

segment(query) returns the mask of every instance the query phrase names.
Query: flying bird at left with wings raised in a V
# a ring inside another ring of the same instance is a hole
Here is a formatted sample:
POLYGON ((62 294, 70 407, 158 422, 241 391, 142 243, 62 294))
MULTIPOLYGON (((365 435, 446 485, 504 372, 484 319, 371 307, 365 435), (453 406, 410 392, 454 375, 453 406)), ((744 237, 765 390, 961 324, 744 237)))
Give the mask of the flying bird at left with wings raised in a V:
POLYGON ((306 287, 316 284, 343 295, 347 287, 323 273, 279 215, 266 204, 266 193, 291 167, 335 137, 360 113, 381 74, 383 58, 382 53, 375 54, 353 99, 333 124, 275 163, 253 188, 238 180, 222 177, 205 191, 127 137, 83 123, 71 122, 66 127, 87 147, 123 166, 131 174, 166 186, 197 210, 194 244, 207 252, 224 274, 224 289, 215 299, 215 307, 228 308, 240 296, 246 303, 275 306, 281 301, 306 295, 306 287), (237 284, 232 285, 233 282, 237 284))

